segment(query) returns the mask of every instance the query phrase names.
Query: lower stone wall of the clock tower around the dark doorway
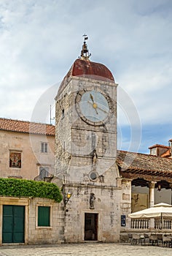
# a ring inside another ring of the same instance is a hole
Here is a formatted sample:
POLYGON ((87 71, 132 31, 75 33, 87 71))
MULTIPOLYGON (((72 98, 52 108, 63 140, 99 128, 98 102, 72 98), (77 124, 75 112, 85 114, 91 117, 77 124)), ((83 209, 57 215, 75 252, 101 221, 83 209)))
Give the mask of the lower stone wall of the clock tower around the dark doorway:
POLYGON ((98 241, 119 241, 121 189, 90 185, 66 185, 65 189, 72 194, 66 205, 66 243, 85 241, 85 214, 98 214, 98 241), (91 193, 95 195, 94 208, 90 208, 91 193))

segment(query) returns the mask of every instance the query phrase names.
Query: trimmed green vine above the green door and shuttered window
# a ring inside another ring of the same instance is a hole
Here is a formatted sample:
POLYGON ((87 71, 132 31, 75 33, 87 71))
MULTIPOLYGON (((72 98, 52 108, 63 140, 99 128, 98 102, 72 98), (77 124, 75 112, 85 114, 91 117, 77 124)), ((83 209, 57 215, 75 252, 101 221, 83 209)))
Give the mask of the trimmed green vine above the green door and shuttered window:
POLYGON ((53 183, 19 178, 0 178, 0 195, 7 197, 43 197, 60 203, 60 189, 53 183))

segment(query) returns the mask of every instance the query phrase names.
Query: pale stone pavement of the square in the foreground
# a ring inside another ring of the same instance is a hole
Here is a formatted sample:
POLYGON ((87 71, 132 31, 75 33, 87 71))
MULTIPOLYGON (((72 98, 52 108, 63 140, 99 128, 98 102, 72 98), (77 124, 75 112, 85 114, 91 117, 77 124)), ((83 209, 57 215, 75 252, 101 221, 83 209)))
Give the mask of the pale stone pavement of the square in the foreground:
POLYGON ((58 244, 0 246, 0 256, 171 256, 172 248, 130 244, 58 244))

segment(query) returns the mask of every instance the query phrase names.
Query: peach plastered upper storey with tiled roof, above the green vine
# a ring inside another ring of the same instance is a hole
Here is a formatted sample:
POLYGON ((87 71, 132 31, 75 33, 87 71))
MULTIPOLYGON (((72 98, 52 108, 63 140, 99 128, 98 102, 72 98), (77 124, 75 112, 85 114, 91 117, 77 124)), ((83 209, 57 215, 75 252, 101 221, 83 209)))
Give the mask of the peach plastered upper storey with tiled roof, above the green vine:
POLYGON ((54 172, 55 127, 0 118, 0 176, 43 179, 54 172))

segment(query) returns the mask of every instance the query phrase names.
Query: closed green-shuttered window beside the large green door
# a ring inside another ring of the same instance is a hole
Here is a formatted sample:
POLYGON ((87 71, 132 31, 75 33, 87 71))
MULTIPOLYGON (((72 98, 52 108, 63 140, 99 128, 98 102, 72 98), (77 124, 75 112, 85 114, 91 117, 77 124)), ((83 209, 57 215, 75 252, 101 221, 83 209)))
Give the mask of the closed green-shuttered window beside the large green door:
POLYGON ((50 227, 50 206, 38 206, 38 226, 50 227))

